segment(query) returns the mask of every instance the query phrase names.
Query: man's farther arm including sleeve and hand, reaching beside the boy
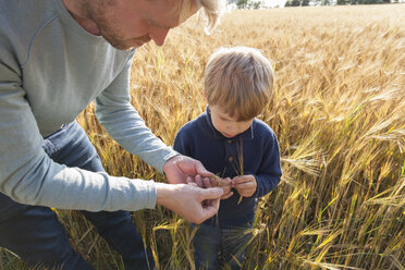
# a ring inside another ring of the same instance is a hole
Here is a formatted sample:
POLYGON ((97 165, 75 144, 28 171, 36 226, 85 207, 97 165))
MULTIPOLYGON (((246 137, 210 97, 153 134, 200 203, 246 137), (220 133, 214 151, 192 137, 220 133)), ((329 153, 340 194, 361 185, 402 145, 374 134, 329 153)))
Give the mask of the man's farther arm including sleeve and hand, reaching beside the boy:
POLYGON ((131 105, 131 63, 130 60, 114 82, 96 98, 96 114, 102 126, 128 152, 164 172, 169 183, 186 183, 187 176, 212 175, 201 162, 174 151, 145 125, 131 105))

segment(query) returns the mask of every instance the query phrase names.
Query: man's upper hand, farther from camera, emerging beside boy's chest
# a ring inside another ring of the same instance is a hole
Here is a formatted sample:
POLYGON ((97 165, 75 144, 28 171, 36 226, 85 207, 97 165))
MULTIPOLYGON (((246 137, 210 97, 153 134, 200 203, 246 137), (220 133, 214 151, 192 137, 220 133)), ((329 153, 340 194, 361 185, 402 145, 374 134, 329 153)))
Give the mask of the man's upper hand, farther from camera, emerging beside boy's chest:
POLYGON ((200 161, 182 155, 169 159, 163 165, 163 171, 170 184, 186 184, 187 177, 213 175, 200 161))

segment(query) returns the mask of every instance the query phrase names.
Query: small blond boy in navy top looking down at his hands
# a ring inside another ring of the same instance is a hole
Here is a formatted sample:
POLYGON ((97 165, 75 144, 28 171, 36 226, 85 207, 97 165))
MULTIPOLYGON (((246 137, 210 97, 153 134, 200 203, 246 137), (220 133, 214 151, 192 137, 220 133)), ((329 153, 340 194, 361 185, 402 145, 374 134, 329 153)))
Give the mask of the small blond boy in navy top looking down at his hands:
POLYGON ((175 137, 174 149, 200 160, 224 189, 218 216, 200 224, 193 240, 196 269, 241 268, 257 198, 280 182, 278 140, 255 118, 272 86, 272 66, 258 50, 219 49, 205 73, 207 110, 175 137))

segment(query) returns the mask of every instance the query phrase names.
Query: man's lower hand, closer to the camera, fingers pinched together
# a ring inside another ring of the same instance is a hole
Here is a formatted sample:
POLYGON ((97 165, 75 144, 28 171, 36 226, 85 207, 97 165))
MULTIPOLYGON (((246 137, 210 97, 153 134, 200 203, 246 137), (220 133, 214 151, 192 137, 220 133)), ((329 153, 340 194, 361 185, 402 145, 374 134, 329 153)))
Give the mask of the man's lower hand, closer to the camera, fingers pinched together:
POLYGON ((222 188, 200 188, 197 184, 170 185, 155 183, 156 202, 176 212, 189 222, 199 224, 218 212, 222 188), (202 204, 204 201, 204 204, 202 204))

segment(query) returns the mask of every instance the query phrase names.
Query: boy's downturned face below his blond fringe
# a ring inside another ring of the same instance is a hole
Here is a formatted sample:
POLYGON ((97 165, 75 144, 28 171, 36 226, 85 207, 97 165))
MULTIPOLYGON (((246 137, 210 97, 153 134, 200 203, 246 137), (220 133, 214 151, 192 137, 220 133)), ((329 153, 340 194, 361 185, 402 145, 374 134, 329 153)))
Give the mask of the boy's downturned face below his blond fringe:
POLYGON ((236 121, 235 118, 231 118, 220 106, 209 106, 211 111, 211 121, 213 127, 219 131, 223 136, 232 138, 237 134, 241 134, 249 128, 253 119, 248 121, 236 121))

